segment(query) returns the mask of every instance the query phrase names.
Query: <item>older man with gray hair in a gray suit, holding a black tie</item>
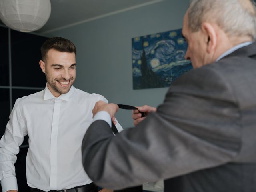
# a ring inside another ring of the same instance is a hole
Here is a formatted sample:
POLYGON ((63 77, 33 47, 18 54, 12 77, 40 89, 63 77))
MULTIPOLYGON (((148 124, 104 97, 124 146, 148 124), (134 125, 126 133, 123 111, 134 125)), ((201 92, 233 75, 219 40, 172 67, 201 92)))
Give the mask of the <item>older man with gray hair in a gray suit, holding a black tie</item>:
POLYGON ((255 6, 191 0, 182 33, 194 70, 172 84, 157 109, 134 110, 136 126, 117 136, 110 122, 118 106, 96 103, 84 168, 106 188, 164 179, 165 192, 255 192, 255 6))

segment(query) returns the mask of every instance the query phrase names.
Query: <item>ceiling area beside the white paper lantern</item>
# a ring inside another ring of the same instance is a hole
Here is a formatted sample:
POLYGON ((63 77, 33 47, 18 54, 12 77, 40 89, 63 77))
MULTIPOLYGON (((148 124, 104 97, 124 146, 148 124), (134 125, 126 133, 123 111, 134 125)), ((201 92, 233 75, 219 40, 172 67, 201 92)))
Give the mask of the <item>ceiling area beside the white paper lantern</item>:
POLYGON ((160 1, 164 0, 50 0, 50 18, 36 32, 44 34, 160 1))

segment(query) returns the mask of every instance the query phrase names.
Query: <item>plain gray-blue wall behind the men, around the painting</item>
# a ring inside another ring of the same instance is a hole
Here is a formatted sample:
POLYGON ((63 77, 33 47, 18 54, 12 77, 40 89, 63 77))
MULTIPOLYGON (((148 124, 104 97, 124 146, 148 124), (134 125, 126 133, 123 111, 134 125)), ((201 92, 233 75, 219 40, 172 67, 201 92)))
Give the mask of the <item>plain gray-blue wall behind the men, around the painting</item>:
MULTIPOLYGON (((168 88, 132 88, 131 39, 182 28, 188 2, 166 0, 46 35, 62 36, 76 45, 76 88, 101 94, 108 102, 158 106, 168 88)), ((133 125, 131 114, 124 110, 116 114, 124 128, 133 125)))

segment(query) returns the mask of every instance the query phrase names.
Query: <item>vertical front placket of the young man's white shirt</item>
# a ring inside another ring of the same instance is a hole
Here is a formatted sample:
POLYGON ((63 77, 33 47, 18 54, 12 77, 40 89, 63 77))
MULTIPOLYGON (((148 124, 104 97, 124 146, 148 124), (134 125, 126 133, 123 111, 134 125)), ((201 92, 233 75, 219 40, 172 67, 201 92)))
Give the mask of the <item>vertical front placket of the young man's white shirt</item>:
POLYGON ((58 143, 58 127, 60 118, 61 100, 54 100, 54 110, 52 116, 52 131, 50 143, 50 188, 57 189, 57 143, 58 143))

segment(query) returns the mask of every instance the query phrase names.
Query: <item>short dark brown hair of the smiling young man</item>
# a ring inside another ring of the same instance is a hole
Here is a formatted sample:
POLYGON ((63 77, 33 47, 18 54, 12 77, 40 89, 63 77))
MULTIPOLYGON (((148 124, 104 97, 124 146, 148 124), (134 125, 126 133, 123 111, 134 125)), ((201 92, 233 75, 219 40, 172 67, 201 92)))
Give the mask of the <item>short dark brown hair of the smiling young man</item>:
POLYGON ((47 59, 47 54, 50 49, 76 54, 76 46, 70 40, 62 37, 52 37, 46 40, 41 46, 41 55, 44 62, 47 59))

